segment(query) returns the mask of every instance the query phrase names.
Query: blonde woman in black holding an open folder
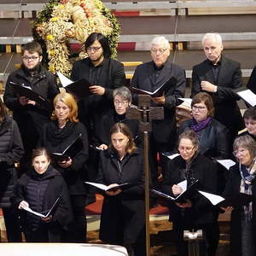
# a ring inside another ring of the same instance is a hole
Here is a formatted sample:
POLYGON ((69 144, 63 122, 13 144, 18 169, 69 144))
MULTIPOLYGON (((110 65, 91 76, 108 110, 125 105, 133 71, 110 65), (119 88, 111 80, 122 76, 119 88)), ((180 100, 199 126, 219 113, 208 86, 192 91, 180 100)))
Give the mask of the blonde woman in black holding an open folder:
POLYGON ((76 138, 82 138, 84 146, 73 159, 69 157, 67 160, 54 162, 53 165, 67 182, 72 202, 74 221, 69 225, 67 241, 84 242, 86 241, 84 180, 86 179, 85 163, 88 158, 87 131, 77 119, 78 106, 71 94, 60 93, 55 96, 54 107, 52 121, 44 125, 38 145, 47 148, 49 153, 61 153, 76 138))

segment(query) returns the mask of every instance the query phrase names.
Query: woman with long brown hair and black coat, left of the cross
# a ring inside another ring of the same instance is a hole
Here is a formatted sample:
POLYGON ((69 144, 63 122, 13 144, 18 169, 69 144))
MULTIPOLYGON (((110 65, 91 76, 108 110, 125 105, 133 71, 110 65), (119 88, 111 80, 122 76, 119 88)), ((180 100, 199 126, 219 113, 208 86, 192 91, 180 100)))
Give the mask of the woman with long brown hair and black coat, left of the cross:
POLYGON ((111 143, 100 155, 97 183, 131 183, 124 190, 107 191, 102 206, 100 239, 145 254, 143 154, 135 147, 129 128, 118 123, 110 131, 111 143), (134 183, 134 184, 132 184, 134 183))

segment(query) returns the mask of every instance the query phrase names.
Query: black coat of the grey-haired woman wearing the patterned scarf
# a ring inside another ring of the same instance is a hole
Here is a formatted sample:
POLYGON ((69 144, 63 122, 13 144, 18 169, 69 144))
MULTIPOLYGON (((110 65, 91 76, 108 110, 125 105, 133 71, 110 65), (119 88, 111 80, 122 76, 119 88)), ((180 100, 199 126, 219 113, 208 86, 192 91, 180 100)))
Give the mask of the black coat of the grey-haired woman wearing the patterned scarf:
MULTIPOLYGON (((230 176, 228 178, 224 197, 234 196, 240 192, 241 184, 241 174, 239 171, 239 164, 230 167, 230 176)), ((256 180, 253 180, 253 244, 256 244, 256 180)), ((231 222, 230 222, 230 255, 241 256, 241 212, 242 207, 236 207, 231 212, 231 222)))

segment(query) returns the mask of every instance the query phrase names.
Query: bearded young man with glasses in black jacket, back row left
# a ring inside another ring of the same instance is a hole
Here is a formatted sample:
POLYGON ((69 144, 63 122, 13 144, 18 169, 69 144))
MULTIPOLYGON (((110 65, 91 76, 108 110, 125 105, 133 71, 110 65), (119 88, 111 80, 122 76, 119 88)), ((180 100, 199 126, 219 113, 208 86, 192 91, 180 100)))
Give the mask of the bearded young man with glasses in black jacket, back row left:
POLYGON ((13 116, 20 129, 20 135, 24 144, 25 155, 20 161, 21 169, 26 170, 30 165, 32 149, 36 148, 39 133, 42 126, 49 121, 52 109, 45 109, 25 96, 19 96, 11 88, 11 84, 20 84, 30 87, 40 96, 53 100, 59 92, 55 75, 49 73, 41 66, 43 52, 40 44, 31 42, 22 47, 21 67, 9 74, 3 101, 7 108, 13 112, 13 116))

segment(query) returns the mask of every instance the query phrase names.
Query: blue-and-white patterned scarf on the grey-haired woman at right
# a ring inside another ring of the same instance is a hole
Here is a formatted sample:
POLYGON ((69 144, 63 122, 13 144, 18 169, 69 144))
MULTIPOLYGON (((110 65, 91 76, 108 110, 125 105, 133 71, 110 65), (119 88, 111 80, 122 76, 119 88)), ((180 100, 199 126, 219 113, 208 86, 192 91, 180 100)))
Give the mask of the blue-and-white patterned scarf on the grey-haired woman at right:
MULTIPOLYGON (((239 170, 241 173, 240 192, 247 195, 252 195, 252 181, 256 176, 256 158, 253 159, 253 163, 248 168, 239 164, 239 170)), ((250 202, 247 206, 243 207, 246 224, 250 223, 253 218, 253 202, 250 202)))

